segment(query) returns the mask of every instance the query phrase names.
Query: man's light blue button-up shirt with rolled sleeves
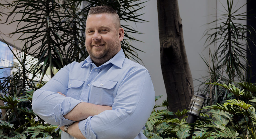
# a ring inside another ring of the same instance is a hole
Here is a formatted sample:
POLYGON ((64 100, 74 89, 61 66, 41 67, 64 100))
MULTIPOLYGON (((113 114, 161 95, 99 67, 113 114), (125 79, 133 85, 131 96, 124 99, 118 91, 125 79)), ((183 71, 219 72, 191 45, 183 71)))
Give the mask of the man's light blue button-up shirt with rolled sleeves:
MULTIPOLYGON (((80 63, 72 62, 63 67, 34 92, 32 108, 47 123, 61 127, 74 122, 63 115, 81 102, 112 106, 112 110, 80 121, 82 134, 87 139, 144 139, 142 130, 150 117, 154 100, 155 92, 148 71, 125 58, 120 50, 99 67, 90 56, 80 63)), ((73 137, 62 132, 61 138, 73 137)))

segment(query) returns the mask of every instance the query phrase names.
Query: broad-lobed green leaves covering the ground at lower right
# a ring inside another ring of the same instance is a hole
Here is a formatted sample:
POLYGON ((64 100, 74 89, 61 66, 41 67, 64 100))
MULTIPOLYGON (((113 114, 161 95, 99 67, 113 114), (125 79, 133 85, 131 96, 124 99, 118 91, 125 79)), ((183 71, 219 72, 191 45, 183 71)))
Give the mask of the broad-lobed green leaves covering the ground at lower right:
MULTIPOLYGON (((206 106, 202 109, 208 111, 200 113, 200 117, 195 123, 187 123, 187 116, 182 119, 174 117, 183 112, 178 111, 173 113, 167 111, 167 108, 163 110, 154 109, 146 123, 144 134, 148 138, 154 139, 256 139, 256 94, 248 90, 256 86, 249 83, 239 84, 249 85, 243 89, 245 94, 253 94, 251 99, 245 100, 243 95, 240 95, 238 99, 230 99, 223 104, 206 106), (240 99, 244 99, 246 102, 240 99)), ((226 84, 216 85, 227 87, 226 84)), ((228 87, 230 93, 236 93, 237 90, 240 89, 233 85, 229 85, 228 87)), ((158 97, 156 97, 157 99, 158 97)), ((166 105, 164 104, 164 106, 166 105)))

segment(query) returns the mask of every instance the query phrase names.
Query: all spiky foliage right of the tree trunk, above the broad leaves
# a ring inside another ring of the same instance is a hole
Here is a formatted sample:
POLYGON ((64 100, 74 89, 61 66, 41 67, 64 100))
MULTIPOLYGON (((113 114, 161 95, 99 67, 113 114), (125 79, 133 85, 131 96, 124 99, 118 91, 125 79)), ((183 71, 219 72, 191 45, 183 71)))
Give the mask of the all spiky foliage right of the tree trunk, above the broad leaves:
MULTIPOLYGON (((220 3, 222 4, 222 1, 220 3)), ((254 46, 256 44, 252 38, 246 35, 246 33, 249 33, 251 36, 255 36, 255 29, 240 23, 246 21, 248 17, 254 16, 247 15, 247 12, 241 12, 246 4, 238 7, 233 0, 226 0, 226 5, 222 4, 224 11, 218 9, 221 13, 214 14, 216 20, 206 24, 214 27, 204 33, 206 47, 216 46, 214 49, 209 48, 209 61, 201 56, 209 69, 209 76, 203 77, 204 81, 199 80, 202 82, 199 90, 203 94, 207 94, 207 104, 209 105, 224 103, 225 100, 237 97, 238 94, 235 94, 236 97, 234 97, 227 93, 228 90, 223 90, 223 86, 220 87, 219 85, 234 81, 247 81, 245 73, 250 63, 247 62, 246 55, 251 54, 250 50, 247 50, 247 48, 249 49, 248 42, 253 42, 252 45, 254 46), (218 83, 218 85, 205 85, 208 82, 218 83)))

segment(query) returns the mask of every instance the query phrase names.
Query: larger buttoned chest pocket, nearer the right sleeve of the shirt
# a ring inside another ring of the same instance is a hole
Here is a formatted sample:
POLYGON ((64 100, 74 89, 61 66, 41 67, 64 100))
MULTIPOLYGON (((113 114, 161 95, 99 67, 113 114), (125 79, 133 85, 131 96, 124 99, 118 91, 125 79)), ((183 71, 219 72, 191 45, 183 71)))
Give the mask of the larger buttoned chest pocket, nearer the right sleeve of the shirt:
POLYGON ((95 81, 92 83, 89 103, 112 106, 113 91, 117 82, 110 80, 95 81))

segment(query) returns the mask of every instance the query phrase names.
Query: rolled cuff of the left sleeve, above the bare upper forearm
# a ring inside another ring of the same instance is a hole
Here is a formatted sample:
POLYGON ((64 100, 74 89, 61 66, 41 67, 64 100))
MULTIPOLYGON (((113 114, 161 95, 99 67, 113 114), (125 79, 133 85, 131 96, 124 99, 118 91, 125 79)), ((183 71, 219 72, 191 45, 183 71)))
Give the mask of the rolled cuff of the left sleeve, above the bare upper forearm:
POLYGON ((60 125, 59 127, 62 127, 63 125, 67 125, 70 123, 73 123, 75 121, 65 119, 63 115, 66 115, 69 113, 77 104, 81 103, 82 101, 71 98, 71 97, 66 97, 61 101, 58 105, 56 105, 53 109, 56 115, 56 121, 60 120, 60 125))

